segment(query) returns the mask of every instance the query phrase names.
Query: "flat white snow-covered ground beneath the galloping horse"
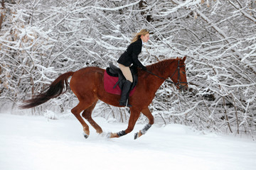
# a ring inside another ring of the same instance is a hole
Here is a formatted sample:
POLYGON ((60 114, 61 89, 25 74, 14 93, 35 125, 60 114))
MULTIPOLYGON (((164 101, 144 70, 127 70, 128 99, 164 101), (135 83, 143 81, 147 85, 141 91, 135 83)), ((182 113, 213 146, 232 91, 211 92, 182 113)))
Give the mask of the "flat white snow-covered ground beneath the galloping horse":
MULTIPOLYGON (((126 123, 95 118, 105 132, 119 132, 126 123)), ((0 113, 0 169, 256 169, 256 142, 225 135, 201 135, 183 125, 153 125, 133 140, 134 131, 107 139, 90 127, 82 136, 75 118, 48 120, 39 116, 0 113)))

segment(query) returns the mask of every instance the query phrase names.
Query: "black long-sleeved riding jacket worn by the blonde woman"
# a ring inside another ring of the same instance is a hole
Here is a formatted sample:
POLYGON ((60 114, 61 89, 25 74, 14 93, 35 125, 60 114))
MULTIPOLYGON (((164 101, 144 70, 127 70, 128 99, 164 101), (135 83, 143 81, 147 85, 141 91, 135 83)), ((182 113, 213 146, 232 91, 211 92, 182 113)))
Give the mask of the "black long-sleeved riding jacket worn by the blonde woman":
POLYGON ((134 66, 140 67, 142 69, 146 69, 144 65, 139 62, 138 55, 142 52, 142 39, 139 38, 139 40, 132 42, 132 44, 127 47, 127 50, 119 57, 119 60, 117 62, 119 64, 123 64, 126 67, 129 67, 131 64, 134 64, 134 66))

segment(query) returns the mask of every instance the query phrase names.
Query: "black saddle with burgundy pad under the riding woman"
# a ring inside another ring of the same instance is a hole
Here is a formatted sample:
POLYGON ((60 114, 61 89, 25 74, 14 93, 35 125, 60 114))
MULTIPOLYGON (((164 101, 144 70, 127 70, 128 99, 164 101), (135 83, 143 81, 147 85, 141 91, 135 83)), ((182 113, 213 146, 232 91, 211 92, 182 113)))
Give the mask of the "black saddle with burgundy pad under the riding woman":
MULTIPOLYGON (((135 86, 138 82, 137 67, 129 67, 132 72, 132 87, 130 91, 130 96, 134 93, 135 86)), ((107 67, 104 75, 104 87, 105 90, 111 94, 121 94, 122 86, 126 81, 124 74, 122 74, 121 69, 116 67, 112 62, 110 62, 110 67, 107 67)))

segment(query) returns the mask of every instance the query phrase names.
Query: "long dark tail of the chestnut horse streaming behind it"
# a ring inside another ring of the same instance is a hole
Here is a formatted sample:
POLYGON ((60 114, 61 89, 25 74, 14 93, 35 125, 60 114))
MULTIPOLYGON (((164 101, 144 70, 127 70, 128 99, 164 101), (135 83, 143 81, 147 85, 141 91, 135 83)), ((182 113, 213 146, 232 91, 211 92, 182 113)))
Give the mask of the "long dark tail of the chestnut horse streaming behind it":
POLYGON ((68 78, 72 76, 74 72, 66 72, 65 74, 61 74, 60 77, 55 79, 47 89, 45 89, 41 94, 37 96, 33 96, 33 98, 23 101, 23 105, 20 108, 33 108, 39 106, 46 101, 49 101, 51 98, 56 98, 60 96, 60 94, 64 94, 68 90, 68 78), (63 91, 63 89, 65 89, 63 91))

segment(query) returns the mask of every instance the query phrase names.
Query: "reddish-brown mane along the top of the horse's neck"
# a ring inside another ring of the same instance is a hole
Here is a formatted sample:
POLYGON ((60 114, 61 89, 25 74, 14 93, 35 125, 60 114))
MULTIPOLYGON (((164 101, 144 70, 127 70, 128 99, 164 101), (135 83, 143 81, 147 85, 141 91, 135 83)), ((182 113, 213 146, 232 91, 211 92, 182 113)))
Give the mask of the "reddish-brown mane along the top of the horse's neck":
POLYGON ((166 72, 166 69, 167 67, 170 67, 170 64, 174 61, 177 61, 177 60, 181 60, 179 58, 176 58, 176 59, 168 59, 168 60, 163 60, 161 62, 156 62, 154 64, 151 64, 147 67, 147 69, 150 71, 150 72, 153 72, 153 71, 159 71, 161 74, 164 74, 164 72, 166 72))

